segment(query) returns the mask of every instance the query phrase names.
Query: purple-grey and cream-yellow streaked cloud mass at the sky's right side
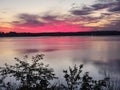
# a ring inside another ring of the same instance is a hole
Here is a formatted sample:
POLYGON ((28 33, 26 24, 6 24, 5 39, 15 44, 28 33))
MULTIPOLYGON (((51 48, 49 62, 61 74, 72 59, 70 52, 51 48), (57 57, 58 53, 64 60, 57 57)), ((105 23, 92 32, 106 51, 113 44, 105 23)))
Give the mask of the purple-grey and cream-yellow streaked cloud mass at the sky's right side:
MULTIPOLYGON (((102 20, 106 20, 103 23, 104 26, 97 26, 103 30, 120 30, 120 0, 97 0, 93 5, 85 6, 83 8, 72 8, 71 15, 79 16, 81 20, 76 19, 76 21, 82 21, 85 24, 95 24, 102 23, 102 20), (99 12, 100 11, 100 12, 99 12)), ((76 18, 79 18, 76 17, 76 18)), ((94 27, 94 26, 93 26, 94 27)))

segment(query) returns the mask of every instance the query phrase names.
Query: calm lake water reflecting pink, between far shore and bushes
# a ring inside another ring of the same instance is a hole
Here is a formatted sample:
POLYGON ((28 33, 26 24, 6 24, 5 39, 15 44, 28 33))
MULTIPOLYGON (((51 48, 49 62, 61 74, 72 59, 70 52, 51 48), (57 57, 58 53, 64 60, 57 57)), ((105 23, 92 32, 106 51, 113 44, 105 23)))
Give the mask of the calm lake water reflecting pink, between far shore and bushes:
POLYGON ((120 80, 120 37, 19 37, 0 38, 0 65, 14 64, 14 57, 44 53, 44 62, 62 77, 63 69, 84 64, 95 78, 106 72, 120 80))

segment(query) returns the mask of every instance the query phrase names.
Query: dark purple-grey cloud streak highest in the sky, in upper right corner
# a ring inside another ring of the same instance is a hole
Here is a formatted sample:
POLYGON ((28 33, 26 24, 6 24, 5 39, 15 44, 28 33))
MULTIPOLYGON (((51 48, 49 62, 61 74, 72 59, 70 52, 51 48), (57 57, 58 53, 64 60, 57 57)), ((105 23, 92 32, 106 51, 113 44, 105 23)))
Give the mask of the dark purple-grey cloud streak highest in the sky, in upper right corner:
POLYGON ((120 11, 120 0, 99 0, 98 3, 93 4, 89 7, 85 6, 82 9, 81 8, 77 8, 77 9, 73 9, 71 10, 71 14, 72 15, 89 15, 91 13, 94 13, 94 11, 98 11, 101 9, 108 9, 108 12, 119 12, 120 11), (106 2, 103 2, 106 1, 106 2))

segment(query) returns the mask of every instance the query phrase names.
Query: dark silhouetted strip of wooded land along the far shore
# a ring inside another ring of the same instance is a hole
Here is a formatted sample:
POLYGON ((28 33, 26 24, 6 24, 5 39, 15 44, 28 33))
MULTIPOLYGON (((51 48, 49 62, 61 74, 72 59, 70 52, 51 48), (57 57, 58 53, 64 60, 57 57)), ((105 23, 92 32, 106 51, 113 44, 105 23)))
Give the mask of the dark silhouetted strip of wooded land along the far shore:
POLYGON ((37 36, 120 36, 120 31, 54 32, 54 33, 0 32, 0 37, 37 37, 37 36))

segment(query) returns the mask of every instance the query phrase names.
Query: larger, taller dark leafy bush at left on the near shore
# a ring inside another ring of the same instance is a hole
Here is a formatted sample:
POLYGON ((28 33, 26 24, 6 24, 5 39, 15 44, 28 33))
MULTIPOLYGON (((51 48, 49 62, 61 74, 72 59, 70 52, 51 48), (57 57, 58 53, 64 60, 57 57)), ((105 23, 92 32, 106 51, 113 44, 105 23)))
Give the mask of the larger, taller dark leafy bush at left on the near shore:
MULTIPOLYGON (((24 57, 24 60, 15 58, 17 63, 15 65, 5 64, 5 67, 0 68, 0 74, 4 77, 14 76, 16 80, 20 80, 21 89, 41 87, 41 89, 46 89, 50 82, 55 78, 53 69, 49 68, 49 65, 44 65, 40 62, 43 59, 43 54, 35 55, 32 57, 32 63, 28 63, 28 56, 24 57)), ((28 90, 28 89, 27 89, 28 90)))

